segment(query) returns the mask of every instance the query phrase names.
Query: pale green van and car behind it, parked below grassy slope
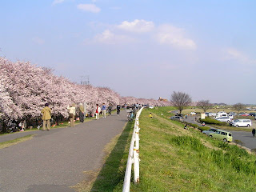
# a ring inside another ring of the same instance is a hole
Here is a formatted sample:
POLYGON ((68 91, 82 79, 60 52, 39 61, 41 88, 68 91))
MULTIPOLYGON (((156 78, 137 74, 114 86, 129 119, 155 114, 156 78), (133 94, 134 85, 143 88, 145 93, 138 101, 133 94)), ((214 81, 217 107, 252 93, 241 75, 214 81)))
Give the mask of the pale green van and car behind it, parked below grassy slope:
POLYGON ((226 130, 211 128, 210 130, 203 130, 202 133, 208 135, 210 138, 217 138, 223 142, 232 142, 233 140, 232 133, 226 130))

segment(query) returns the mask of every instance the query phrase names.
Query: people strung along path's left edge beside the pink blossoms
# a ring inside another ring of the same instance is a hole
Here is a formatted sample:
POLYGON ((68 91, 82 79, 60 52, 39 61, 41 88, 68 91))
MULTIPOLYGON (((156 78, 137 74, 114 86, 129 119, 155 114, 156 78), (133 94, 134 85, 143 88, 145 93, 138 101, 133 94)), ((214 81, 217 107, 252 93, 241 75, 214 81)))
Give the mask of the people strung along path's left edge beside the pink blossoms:
MULTIPOLYGON (((117 108, 117 115, 120 114, 121 106, 118 104, 116 106, 117 108)), ((99 114, 102 112, 102 117, 106 118, 106 110, 108 110, 108 113, 111 115, 112 114, 112 109, 113 105, 110 103, 109 106, 106 106, 105 103, 102 104, 102 106, 98 106, 96 104, 96 111, 95 111, 95 116, 96 119, 99 119, 99 114)), ((72 104, 71 106, 67 106, 67 110, 69 113, 69 122, 70 126, 74 127, 74 118, 76 115, 76 107, 75 104, 72 104)), ((82 103, 79 104, 78 106, 78 111, 79 111, 79 120, 80 122, 84 122, 85 119, 85 108, 82 103)), ((50 130, 50 119, 51 119, 51 109, 49 107, 49 103, 45 104, 45 107, 41 110, 42 113, 42 130, 50 130)))

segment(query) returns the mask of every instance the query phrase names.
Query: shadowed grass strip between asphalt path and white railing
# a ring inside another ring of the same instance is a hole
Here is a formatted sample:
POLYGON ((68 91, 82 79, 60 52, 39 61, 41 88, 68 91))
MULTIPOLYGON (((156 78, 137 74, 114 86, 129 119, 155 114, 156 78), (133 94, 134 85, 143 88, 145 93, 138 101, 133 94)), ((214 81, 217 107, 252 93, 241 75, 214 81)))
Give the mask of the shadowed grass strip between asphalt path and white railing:
POLYGON ((126 149, 126 145, 130 143, 130 134, 132 134, 131 130, 133 126, 134 122, 127 122, 126 128, 122 131, 117 144, 106 159, 106 163, 102 166, 102 170, 100 170, 91 191, 113 191, 116 188, 122 189, 130 146, 129 145, 128 149, 126 149))

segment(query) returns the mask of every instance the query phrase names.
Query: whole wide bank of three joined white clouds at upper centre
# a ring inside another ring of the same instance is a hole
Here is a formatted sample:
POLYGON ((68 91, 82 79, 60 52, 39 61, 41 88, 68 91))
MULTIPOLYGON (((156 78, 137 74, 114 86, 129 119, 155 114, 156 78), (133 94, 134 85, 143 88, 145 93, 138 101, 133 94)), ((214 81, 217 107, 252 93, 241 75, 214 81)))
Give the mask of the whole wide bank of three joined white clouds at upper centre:
POLYGON ((135 19, 133 22, 121 22, 119 25, 103 26, 105 30, 94 38, 86 39, 90 43, 147 43, 157 41, 160 45, 170 45, 179 50, 196 50, 196 43, 186 38, 184 30, 170 25, 154 26, 154 22, 135 19), (127 33, 129 32, 129 33, 127 33), (130 33, 131 32, 131 33, 130 33))

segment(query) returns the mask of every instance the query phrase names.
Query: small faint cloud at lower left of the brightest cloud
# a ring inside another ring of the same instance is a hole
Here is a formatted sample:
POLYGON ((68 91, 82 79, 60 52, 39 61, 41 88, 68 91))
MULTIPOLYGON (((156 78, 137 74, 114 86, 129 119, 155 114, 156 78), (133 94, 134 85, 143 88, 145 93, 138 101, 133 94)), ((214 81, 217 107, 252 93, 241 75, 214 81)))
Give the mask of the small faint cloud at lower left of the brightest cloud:
POLYGON ((94 42, 105 44, 129 43, 134 42, 134 38, 122 34, 114 34, 110 30, 104 30, 102 34, 97 34, 94 37, 94 42))

